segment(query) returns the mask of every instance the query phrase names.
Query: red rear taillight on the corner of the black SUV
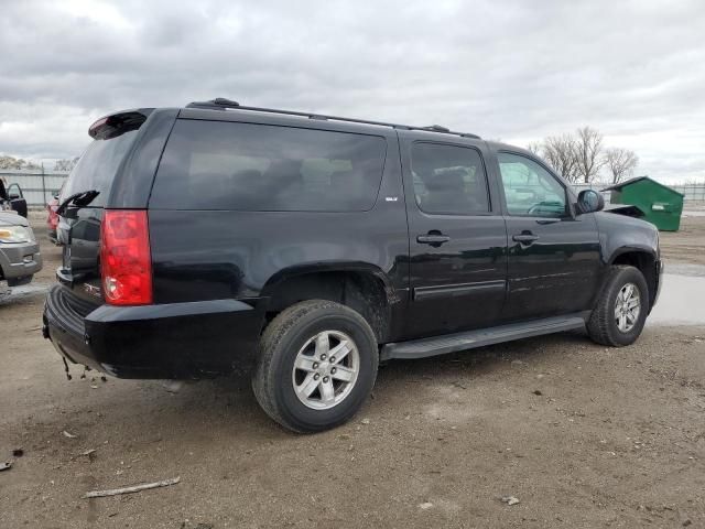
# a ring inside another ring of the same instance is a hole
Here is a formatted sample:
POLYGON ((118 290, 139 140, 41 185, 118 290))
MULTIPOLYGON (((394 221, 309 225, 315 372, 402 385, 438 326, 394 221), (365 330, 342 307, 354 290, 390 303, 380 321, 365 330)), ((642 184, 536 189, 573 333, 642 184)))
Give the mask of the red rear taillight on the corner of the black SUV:
POLYGON ((100 276, 106 301, 111 305, 152 303, 152 256, 145 210, 106 209, 100 276))

